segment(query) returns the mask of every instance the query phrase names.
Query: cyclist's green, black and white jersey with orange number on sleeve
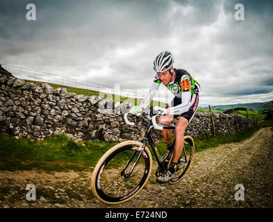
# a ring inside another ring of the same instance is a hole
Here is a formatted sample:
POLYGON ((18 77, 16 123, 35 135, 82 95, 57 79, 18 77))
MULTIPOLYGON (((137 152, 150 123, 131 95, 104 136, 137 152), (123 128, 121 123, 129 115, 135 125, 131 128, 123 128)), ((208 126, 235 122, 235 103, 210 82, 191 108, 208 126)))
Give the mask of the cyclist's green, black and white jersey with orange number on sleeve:
MULTIPOLYGON (((154 83, 152 83, 148 94, 144 96, 144 99, 140 103, 140 107, 143 109, 147 108, 156 95, 160 84, 161 80, 159 79, 158 74, 156 74, 154 83)), ((174 99, 177 98, 175 104, 172 102, 172 105, 168 105, 170 110, 169 114, 177 117, 185 112, 188 112, 192 105, 194 105, 193 107, 196 111, 198 106, 197 95, 200 91, 200 85, 187 71, 184 69, 174 69, 174 80, 165 85, 165 87, 167 87, 167 89, 174 94, 174 99), (179 101, 181 102, 179 103, 179 101), (195 103, 193 103, 194 101, 195 103)))

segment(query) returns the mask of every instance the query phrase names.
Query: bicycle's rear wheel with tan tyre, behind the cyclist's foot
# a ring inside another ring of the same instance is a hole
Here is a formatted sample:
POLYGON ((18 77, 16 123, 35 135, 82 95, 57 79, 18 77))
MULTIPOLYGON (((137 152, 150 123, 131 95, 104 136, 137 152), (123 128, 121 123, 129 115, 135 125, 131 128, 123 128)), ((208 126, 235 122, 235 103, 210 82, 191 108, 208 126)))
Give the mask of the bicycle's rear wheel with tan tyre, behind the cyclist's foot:
POLYGON ((182 150, 181 153, 181 158, 183 158, 183 160, 186 162, 184 162, 183 164, 181 164, 181 166, 179 166, 178 171, 176 171, 174 173, 174 178, 172 178, 171 180, 169 180, 169 183, 171 184, 175 184, 176 182, 179 182, 183 176, 185 175, 186 171, 188 171, 188 168, 190 167, 190 163, 192 162, 192 157, 195 153, 195 142, 192 139, 192 137, 190 136, 185 136, 184 137, 184 148, 185 148, 185 152, 186 152, 186 159, 185 159, 185 155, 184 152, 182 150))

